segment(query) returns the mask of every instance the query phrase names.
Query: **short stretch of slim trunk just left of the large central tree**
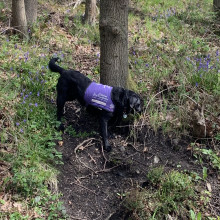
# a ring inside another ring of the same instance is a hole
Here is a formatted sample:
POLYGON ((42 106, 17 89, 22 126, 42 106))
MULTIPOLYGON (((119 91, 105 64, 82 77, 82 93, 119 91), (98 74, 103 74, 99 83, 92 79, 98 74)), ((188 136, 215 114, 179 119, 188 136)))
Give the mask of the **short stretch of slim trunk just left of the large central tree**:
POLYGON ((96 0, 86 0, 85 23, 94 25, 96 21, 96 0))

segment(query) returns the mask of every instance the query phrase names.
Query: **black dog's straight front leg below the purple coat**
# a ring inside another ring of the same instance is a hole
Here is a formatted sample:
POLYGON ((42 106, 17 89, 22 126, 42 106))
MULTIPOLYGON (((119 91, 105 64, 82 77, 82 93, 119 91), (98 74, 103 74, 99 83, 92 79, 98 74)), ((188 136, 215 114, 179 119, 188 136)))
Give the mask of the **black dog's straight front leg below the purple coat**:
MULTIPOLYGON (((110 113, 111 114, 111 113, 110 113)), ((101 136, 103 140, 104 150, 111 151, 111 145, 108 142, 108 121, 111 116, 108 113, 101 114, 100 116, 100 129, 101 129, 101 136)))

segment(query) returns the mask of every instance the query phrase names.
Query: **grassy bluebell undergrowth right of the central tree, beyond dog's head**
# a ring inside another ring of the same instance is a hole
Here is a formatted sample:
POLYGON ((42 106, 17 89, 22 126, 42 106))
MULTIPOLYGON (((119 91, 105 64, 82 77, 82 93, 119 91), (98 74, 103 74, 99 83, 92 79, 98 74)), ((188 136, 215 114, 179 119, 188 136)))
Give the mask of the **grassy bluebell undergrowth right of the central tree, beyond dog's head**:
POLYGON ((146 97, 150 125, 179 136, 191 135, 196 105, 204 106, 213 127, 218 124, 220 39, 213 34, 218 18, 212 1, 175 2, 135 1, 139 11, 129 14, 129 63, 146 97))

